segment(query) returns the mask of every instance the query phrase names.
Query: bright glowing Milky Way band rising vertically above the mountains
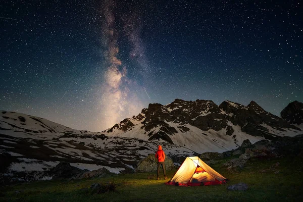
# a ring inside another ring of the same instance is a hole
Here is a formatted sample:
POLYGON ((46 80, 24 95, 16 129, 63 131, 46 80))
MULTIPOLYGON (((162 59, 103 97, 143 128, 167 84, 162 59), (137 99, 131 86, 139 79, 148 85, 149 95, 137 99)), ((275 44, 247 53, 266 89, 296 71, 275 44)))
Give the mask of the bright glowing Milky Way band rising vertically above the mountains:
POLYGON ((114 1, 105 1, 102 8, 105 19, 102 30, 106 49, 105 63, 108 66, 100 91, 99 120, 104 128, 109 128, 126 117, 132 117, 134 113, 139 113, 143 107, 136 94, 127 87, 127 83, 131 83, 130 79, 127 78, 127 69, 125 66, 121 68, 122 61, 117 58, 119 53, 117 38, 120 32, 115 24, 114 11, 117 9, 116 7, 114 1))

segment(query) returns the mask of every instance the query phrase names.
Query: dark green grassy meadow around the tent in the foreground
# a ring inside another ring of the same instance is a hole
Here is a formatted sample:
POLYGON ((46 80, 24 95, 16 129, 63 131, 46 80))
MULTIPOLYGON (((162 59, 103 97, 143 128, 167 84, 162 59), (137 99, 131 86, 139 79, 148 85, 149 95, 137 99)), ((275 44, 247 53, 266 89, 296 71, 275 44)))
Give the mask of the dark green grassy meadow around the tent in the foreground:
MULTIPOLYGON (((226 161, 226 160, 225 160, 226 161)), ((223 162, 223 161, 222 161, 223 162)), ((0 201, 302 201, 303 161, 299 157, 251 160, 240 171, 230 173, 212 166, 230 179, 225 185, 179 187, 167 180, 147 179, 155 173, 119 174, 81 181, 36 181, 0 187, 0 201), (279 162, 274 170, 269 169, 279 162), (279 171, 275 174, 274 172, 279 171), (228 185, 244 182, 247 191, 227 191, 228 185), (112 183, 114 192, 92 194, 93 183, 112 183)), ((172 177, 175 171, 168 172, 172 177)))

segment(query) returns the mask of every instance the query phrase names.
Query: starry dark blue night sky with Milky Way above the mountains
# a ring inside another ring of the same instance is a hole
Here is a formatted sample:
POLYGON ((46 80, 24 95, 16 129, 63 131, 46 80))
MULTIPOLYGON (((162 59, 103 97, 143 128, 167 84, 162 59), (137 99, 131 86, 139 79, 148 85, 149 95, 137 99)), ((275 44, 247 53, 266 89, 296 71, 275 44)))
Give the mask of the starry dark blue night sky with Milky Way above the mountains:
POLYGON ((75 129, 175 98, 303 102, 301 1, 2 0, 0 44, 0 110, 75 129))

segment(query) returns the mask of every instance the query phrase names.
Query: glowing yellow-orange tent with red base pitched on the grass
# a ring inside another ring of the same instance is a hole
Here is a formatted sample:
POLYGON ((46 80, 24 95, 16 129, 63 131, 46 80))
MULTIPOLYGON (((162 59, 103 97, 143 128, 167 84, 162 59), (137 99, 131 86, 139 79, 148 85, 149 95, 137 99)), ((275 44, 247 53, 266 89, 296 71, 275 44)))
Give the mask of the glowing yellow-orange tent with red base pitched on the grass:
POLYGON ((200 186, 224 184, 227 179, 198 157, 187 157, 176 174, 165 184, 176 186, 200 186))

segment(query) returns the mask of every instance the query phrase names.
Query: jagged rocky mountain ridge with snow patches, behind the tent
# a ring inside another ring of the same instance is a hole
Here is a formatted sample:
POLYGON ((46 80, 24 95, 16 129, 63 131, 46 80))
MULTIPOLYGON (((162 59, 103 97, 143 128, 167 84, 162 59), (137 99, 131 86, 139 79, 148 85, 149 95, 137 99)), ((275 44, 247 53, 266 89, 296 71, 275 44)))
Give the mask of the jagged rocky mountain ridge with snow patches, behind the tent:
POLYGON ((256 102, 248 106, 224 101, 175 99, 168 105, 149 104, 147 109, 102 131, 107 136, 159 140, 185 146, 197 153, 231 150, 249 139, 295 136, 300 128, 266 112, 256 102))

